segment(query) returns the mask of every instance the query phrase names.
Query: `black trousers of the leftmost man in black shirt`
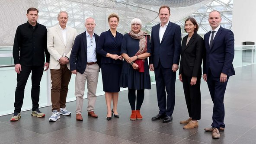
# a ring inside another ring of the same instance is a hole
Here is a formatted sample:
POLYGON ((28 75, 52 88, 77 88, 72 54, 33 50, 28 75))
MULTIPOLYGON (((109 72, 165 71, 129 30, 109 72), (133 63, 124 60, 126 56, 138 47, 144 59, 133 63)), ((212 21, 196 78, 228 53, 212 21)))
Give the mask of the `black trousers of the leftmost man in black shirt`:
POLYGON ((24 90, 32 72, 32 88, 31 88, 31 99, 32 99, 32 111, 38 109, 39 107, 39 93, 40 93, 40 82, 44 72, 44 66, 24 66, 21 65, 20 74, 17 74, 17 87, 15 90, 15 102, 14 102, 14 112, 20 112, 24 99, 24 90))

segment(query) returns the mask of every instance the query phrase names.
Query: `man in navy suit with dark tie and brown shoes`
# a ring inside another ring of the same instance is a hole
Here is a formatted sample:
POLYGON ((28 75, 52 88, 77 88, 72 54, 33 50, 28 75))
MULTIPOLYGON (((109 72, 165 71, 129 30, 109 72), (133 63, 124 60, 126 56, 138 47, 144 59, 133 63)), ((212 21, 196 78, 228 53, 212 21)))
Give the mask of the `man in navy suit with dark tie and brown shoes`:
POLYGON ((220 138, 219 131, 224 131, 224 94, 227 81, 235 75, 232 64, 234 59, 234 34, 229 29, 220 26, 221 14, 217 10, 209 14, 211 31, 204 36, 205 52, 203 59, 203 79, 207 82, 213 101, 211 128, 212 138, 220 138))

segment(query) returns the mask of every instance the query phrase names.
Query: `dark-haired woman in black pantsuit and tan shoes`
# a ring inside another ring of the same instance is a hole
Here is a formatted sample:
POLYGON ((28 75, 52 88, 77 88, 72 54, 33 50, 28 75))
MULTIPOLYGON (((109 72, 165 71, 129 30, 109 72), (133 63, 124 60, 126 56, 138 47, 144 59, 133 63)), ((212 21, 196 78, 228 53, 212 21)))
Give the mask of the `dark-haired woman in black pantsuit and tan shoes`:
POLYGON ((204 41, 197 34, 198 24, 194 18, 186 19, 184 30, 188 35, 182 40, 179 80, 183 83, 189 118, 180 123, 186 124, 184 129, 191 129, 197 128, 197 120, 201 119, 200 79, 204 41))

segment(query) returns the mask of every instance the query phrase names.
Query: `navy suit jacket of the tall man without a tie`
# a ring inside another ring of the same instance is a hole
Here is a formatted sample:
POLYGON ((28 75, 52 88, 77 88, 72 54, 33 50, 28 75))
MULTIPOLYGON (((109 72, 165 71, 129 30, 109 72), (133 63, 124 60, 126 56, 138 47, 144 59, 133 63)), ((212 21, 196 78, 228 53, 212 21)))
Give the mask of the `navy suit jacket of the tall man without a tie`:
POLYGON ((159 61, 161 61, 164 68, 171 68, 173 64, 179 64, 181 29, 179 25, 169 21, 161 43, 159 39, 159 29, 160 24, 152 27, 149 63, 157 67, 159 61))

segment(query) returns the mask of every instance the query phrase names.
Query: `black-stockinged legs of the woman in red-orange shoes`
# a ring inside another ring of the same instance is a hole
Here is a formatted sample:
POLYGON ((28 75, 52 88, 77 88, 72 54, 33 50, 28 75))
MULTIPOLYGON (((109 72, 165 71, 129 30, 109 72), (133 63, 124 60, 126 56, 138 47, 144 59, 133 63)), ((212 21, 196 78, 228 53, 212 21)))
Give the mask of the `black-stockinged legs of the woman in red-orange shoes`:
POLYGON ((136 110, 140 110, 141 105, 142 105, 143 100, 144 100, 144 89, 137 90, 137 97, 136 97, 134 89, 128 89, 128 99, 129 99, 129 103, 130 103, 130 106, 131 106, 131 110, 135 110, 136 100, 137 100, 136 110))

